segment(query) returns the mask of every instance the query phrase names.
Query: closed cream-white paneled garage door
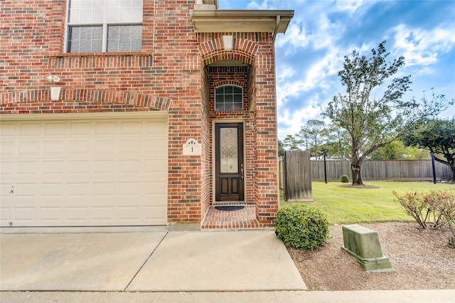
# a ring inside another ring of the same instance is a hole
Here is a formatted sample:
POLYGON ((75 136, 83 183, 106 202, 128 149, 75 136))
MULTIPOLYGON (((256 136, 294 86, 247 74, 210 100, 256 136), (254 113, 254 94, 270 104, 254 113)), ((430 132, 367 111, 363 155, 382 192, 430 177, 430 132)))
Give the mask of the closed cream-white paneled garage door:
POLYGON ((2 226, 167 224, 162 113, 15 116, 1 117, 2 226))

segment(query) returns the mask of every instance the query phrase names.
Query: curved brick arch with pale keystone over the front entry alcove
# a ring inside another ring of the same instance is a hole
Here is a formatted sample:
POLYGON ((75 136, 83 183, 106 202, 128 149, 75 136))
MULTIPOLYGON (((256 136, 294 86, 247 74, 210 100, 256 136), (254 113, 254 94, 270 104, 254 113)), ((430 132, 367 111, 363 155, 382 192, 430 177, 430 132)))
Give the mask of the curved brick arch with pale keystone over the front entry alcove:
POLYGON ((238 60, 254 65, 259 44, 242 38, 233 38, 232 44, 231 50, 225 50, 222 38, 201 43, 198 49, 203 58, 203 65, 220 60, 238 60))

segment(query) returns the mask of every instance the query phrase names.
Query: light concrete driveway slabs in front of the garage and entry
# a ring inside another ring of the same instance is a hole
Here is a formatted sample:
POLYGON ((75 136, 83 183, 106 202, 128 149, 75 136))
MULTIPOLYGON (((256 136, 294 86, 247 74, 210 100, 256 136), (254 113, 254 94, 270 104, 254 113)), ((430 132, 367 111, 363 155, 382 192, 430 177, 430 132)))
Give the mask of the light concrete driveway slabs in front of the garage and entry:
MULTIPOLYGON (((8 230, 8 233, 4 233, 8 230)), ((273 230, 9 233, 0 290, 192 292, 304 290, 273 230)), ((20 229, 18 229, 20 230, 20 229)))

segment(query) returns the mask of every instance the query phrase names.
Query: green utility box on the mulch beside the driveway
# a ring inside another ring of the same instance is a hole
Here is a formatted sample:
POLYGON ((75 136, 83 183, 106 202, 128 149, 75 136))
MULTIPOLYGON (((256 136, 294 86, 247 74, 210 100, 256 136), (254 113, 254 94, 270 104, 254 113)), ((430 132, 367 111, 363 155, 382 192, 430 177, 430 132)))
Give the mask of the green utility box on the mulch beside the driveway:
POLYGON ((349 252, 367 272, 395 272, 388 257, 382 255, 378 233, 358 224, 343 226, 343 250, 349 252))

